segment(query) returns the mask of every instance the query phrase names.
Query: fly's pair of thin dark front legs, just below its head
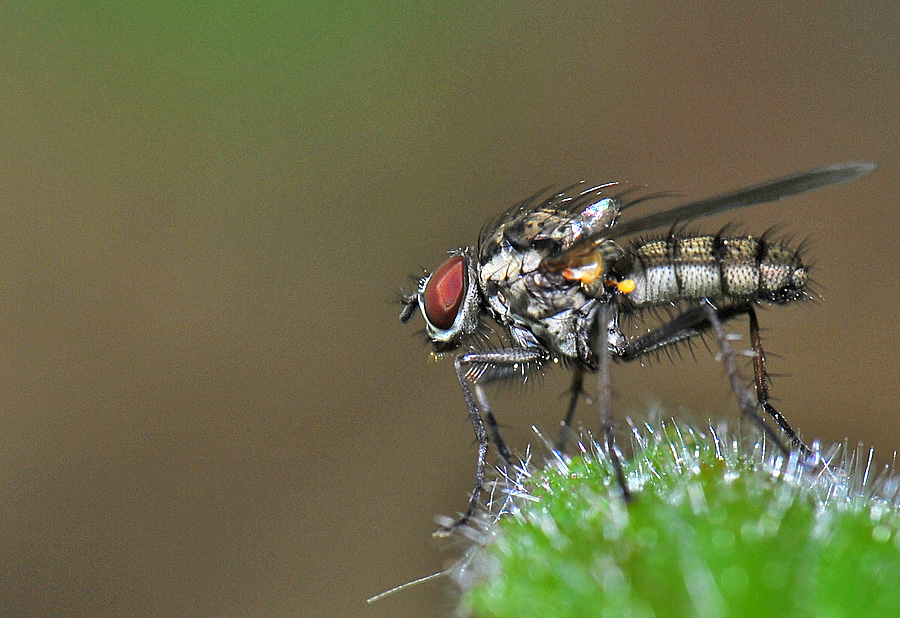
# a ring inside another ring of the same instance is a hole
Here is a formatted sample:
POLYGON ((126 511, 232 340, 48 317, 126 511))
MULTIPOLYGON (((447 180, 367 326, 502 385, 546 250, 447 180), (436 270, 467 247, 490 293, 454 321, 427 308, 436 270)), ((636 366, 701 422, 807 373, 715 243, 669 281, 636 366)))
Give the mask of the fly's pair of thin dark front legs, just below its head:
POLYGON ((504 348, 485 352, 469 352, 456 357, 456 377, 466 400, 466 408, 469 412, 469 420, 475 430, 475 440, 478 443, 478 460, 475 465, 475 486, 472 488, 472 497, 469 506, 462 517, 450 525, 442 525, 435 532, 436 536, 446 536, 460 526, 465 526, 472 519, 472 515, 478 509, 481 492, 484 489, 484 460, 488 448, 488 431, 485 430, 481 410, 487 419, 490 439, 494 441, 497 452, 504 463, 510 465, 510 453, 503 437, 500 435, 500 426, 497 424, 494 414, 491 412, 484 394, 482 384, 493 380, 508 377, 519 367, 527 368, 530 365, 541 363, 549 357, 549 352, 541 347, 530 348, 504 348), (475 386, 473 392, 472 384, 475 386), (479 404, 481 409, 479 409, 479 404))

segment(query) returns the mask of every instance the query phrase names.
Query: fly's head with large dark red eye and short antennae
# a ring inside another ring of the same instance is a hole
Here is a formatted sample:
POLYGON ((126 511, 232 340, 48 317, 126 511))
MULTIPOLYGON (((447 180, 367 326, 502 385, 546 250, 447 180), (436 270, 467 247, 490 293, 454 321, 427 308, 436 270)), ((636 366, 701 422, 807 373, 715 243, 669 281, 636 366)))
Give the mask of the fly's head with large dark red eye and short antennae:
POLYGON ((419 308, 435 352, 458 347, 462 339, 478 330, 481 306, 474 262, 469 251, 454 251, 434 272, 419 280, 416 292, 401 296, 404 307, 400 321, 409 322, 419 308))

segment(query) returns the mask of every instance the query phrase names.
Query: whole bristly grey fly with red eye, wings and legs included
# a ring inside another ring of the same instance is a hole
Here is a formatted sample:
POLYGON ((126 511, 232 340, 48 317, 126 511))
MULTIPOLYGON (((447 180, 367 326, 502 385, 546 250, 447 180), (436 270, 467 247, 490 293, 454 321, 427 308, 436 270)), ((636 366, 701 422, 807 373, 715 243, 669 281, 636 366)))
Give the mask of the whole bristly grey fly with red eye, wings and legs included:
MULTIPOLYGON (((769 403, 754 310, 761 302, 782 304, 807 295, 807 271, 798 253, 765 236, 686 235, 674 227, 658 239, 621 239, 855 180, 872 170, 874 165, 865 163, 832 165, 621 223, 619 217, 632 206, 667 194, 629 200, 631 191, 622 191, 616 183, 573 185, 549 195, 535 194, 513 206, 484 228, 475 247, 452 252, 444 264, 420 280, 416 292, 402 295, 401 314, 407 322, 416 308, 422 311, 425 332, 436 352, 468 346, 456 357, 455 367, 479 445, 476 482, 466 512, 442 532, 467 523, 477 508, 490 441, 509 464, 483 384, 527 376, 550 361, 564 361, 573 370, 573 383, 558 442, 562 449, 584 373, 596 372, 607 449, 627 497, 613 439, 609 358, 639 359, 707 331, 719 332, 721 321, 738 315, 748 315, 750 320, 755 405, 797 448, 806 451, 769 403), (643 336, 629 339, 620 327, 623 316, 673 304, 681 313, 643 336), (478 349, 485 318, 507 336, 504 347, 478 349)), ((755 406, 749 408, 744 406, 762 422, 755 406)), ((767 425, 763 427, 771 432, 767 425)))

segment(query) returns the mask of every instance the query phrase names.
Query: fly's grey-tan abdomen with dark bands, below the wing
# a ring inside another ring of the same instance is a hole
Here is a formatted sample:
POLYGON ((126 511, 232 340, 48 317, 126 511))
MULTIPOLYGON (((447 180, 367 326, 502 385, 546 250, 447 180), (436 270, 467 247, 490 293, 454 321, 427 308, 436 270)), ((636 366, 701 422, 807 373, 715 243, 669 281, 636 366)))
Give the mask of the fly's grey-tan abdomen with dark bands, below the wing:
POLYGON ((803 296, 807 272, 784 245, 762 239, 674 236, 629 251, 634 305, 701 298, 784 303, 803 296))

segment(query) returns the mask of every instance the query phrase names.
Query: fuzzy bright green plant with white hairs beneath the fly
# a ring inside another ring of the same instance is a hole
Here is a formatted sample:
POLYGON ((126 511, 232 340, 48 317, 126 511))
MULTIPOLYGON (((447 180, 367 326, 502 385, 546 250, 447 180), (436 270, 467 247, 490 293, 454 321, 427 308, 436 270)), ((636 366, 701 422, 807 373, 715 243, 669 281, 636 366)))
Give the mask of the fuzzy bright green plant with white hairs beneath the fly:
POLYGON ((460 613, 900 616, 890 470, 875 478, 869 459, 846 449, 811 468, 676 423, 634 441, 628 504, 590 441, 580 456, 554 454, 498 483, 493 514, 468 530, 475 546, 454 569, 460 613))

